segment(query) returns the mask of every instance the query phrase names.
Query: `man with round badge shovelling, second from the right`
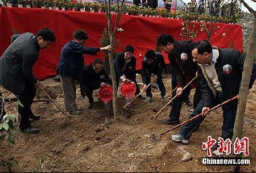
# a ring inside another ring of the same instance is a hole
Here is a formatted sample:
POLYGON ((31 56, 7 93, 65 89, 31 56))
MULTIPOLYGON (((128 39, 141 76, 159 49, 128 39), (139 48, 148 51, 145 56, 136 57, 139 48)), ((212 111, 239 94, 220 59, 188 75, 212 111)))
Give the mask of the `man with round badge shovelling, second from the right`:
MULTIPOLYGON (((177 98, 172 102, 172 109, 167 119, 163 121, 166 124, 179 124, 180 109, 183 103, 185 92, 190 92, 186 88, 184 93, 182 88, 196 76, 197 64, 193 62, 191 47, 195 44, 192 40, 175 41, 171 35, 162 34, 158 37, 158 45, 164 53, 168 54, 169 61, 174 69, 175 76, 172 78, 172 90, 177 86, 177 91, 172 94, 177 98), (176 79, 176 82, 175 82, 176 79)), ((193 106, 196 108, 201 99, 199 82, 196 80, 191 83, 192 88, 196 88, 193 106)))

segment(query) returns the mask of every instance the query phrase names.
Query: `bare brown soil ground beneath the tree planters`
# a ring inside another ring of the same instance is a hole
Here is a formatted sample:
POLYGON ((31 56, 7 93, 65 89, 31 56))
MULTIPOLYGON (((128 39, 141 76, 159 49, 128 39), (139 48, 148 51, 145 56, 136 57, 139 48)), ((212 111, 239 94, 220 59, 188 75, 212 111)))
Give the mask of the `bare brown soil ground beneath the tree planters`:
MULTIPOLYGON (((138 76, 138 82, 141 78, 138 76)), ((164 82, 168 93, 171 91, 170 75, 165 75, 164 82)), ((55 101, 64 109, 64 99, 61 97, 61 84, 46 79, 42 82, 46 90, 55 101), (58 97, 59 96, 59 97, 58 97), (56 98, 59 99, 56 99, 56 98)), ((141 85, 142 86, 142 85, 141 85)), ((11 98, 10 92, 3 90, 5 98, 11 98)), ((16 172, 229 172, 228 166, 205 166, 202 158, 206 151, 201 149, 202 142, 207 136, 217 139, 221 136, 222 110, 214 111, 207 117, 199 130, 193 134, 184 149, 193 154, 192 161, 184 163, 177 146, 182 144, 170 140, 171 134, 179 129, 167 133, 158 143, 152 142, 150 136, 170 129, 173 125, 164 125, 162 120, 168 117, 170 108, 167 108, 156 121, 150 117, 161 100, 160 93, 153 90, 152 103, 145 104, 135 100, 132 108, 134 113, 122 111, 125 98, 119 94, 119 120, 105 125, 104 104, 97 101, 92 109, 87 108, 88 100, 83 100, 80 91, 77 91, 77 105, 82 107, 82 115, 67 119, 52 103, 34 103, 32 110, 41 116, 41 120, 33 121, 32 125, 40 129, 38 134, 15 133, 16 145, 8 148, 0 146, 6 158, 15 157, 19 162, 14 167, 16 172), (127 117, 129 117, 127 119, 127 117)), ((192 98, 192 94, 190 98, 192 98)), ((38 92, 37 98, 46 98, 38 92)), ((249 137, 250 166, 242 166, 242 172, 256 172, 256 86, 250 90, 246 106, 244 136, 249 137)), ((191 99, 192 100, 192 99, 191 99)), ((6 104, 6 110, 17 107, 17 103, 6 104)), ((110 106, 111 107, 111 106, 110 106)), ((183 105, 180 120, 185 121, 189 109, 183 105)), ((16 113, 17 114, 17 113, 16 113)), ((0 171, 1 170, 0 168, 0 171)))

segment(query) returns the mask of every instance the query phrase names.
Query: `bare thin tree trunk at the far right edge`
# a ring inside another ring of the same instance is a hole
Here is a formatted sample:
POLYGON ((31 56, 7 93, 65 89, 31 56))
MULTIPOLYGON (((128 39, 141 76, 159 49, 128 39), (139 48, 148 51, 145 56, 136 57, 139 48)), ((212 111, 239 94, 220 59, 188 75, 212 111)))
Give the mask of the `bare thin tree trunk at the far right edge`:
MULTIPOLYGON (((245 65, 243 66, 243 75, 239 91, 239 101, 237 107, 237 116, 234 124, 233 144, 236 138, 241 139, 243 137, 243 120, 245 117, 245 109, 247 102, 247 95, 249 90, 249 82, 251 77, 251 71, 253 69, 254 55, 256 53, 256 15, 254 14, 254 27, 251 33, 249 47, 246 53, 245 65)), ((234 157, 242 157, 240 155, 234 155, 234 157)), ((239 172, 240 166, 230 167, 233 172, 239 172)))

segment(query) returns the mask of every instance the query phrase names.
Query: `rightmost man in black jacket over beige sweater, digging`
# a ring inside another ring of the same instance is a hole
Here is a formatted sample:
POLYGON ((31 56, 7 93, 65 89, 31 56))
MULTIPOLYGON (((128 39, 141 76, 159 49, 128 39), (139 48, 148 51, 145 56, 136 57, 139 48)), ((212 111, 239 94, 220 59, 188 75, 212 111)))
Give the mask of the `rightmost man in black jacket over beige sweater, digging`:
MULTIPOLYGON (((193 60, 200 64, 198 76, 202 98, 189 119, 238 95, 245 62, 245 56, 238 50, 218 49, 212 47, 207 40, 198 41, 192 47, 192 55, 193 60)), ((253 86, 255 78, 256 64, 253 65, 249 88, 253 86)), ((224 120, 221 137, 224 140, 227 138, 232 140, 237 104, 238 100, 235 100, 222 106, 224 120)), ((179 134, 172 135, 172 140, 188 143, 192 133, 195 132, 205 116, 184 125, 179 134)), ((213 151, 213 154, 219 155, 217 150, 213 151)))

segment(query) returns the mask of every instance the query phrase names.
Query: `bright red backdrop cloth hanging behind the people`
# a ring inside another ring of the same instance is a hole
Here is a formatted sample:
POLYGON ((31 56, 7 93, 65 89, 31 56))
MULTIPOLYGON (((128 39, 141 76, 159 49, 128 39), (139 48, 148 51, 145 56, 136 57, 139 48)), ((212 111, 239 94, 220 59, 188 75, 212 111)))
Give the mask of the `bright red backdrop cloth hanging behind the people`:
MULTIPOLYGON (((115 16, 115 14, 114 14, 115 16)), ((198 33, 195 41, 207 39, 206 33, 200 31, 200 24, 195 23, 198 33)), ((215 23, 214 33, 210 39, 212 45, 219 48, 237 48, 242 50, 242 27, 235 24, 215 23)), ((56 66, 59 62, 61 48, 72 40, 72 33, 76 29, 84 29, 89 36, 85 45, 100 47, 100 38, 104 28, 107 27, 106 16, 98 12, 60 11, 48 9, 27 9, 2 7, 0 9, 0 56, 10 45, 13 31, 36 33, 40 28, 50 28, 56 35, 56 43, 48 49, 40 50, 39 60, 34 66, 34 74, 38 79, 52 77, 56 74, 56 66)), ((148 49, 156 48, 156 37, 162 33, 168 33, 176 40, 182 40, 180 36, 182 28, 181 19, 146 18, 141 16, 121 16, 116 37, 120 39, 121 47, 115 50, 119 52, 126 45, 133 45, 134 56, 137 58, 137 70, 141 69, 141 61, 148 49)), ((104 54, 97 56, 85 55, 85 64, 89 64, 94 58, 104 59, 104 54)), ((167 54, 164 58, 168 63, 167 54)))

